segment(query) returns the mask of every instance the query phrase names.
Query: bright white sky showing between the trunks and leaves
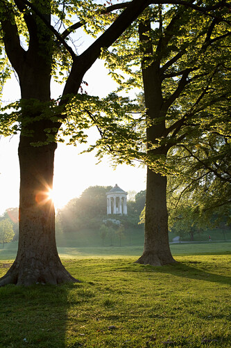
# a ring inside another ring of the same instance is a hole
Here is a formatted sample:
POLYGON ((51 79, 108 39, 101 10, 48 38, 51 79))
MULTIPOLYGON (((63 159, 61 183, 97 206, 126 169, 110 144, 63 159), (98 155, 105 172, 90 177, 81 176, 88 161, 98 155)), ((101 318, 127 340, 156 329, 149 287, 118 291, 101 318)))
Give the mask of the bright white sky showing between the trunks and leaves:
MULTIPOLYGON (((85 74, 88 82, 87 93, 103 97, 117 88, 103 67, 102 61, 97 61, 85 74)), ((58 88, 53 90, 52 97, 61 94, 58 88)), ((3 89, 3 100, 13 101, 20 97, 19 84, 15 77, 8 81, 3 89)), ((96 134, 92 134, 96 136, 96 134)), ((19 161, 17 146, 19 136, 0 139, 0 214, 9 207, 19 205, 19 161)), ((62 207, 74 197, 78 197, 87 187, 94 185, 114 186, 118 184, 125 191, 141 191, 146 189, 146 169, 126 165, 117 166, 115 170, 105 158, 96 165, 93 154, 78 155, 82 150, 59 144, 55 151, 54 200, 55 206, 62 207)))

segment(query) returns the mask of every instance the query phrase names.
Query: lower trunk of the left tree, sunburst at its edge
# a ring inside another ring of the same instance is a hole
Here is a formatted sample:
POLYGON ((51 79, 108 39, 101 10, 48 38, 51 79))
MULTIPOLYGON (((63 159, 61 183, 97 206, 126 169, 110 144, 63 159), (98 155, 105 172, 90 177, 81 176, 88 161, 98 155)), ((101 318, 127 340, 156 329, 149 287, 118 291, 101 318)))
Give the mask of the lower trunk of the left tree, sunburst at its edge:
POLYGON ((76 281, 62 266, 55 244, 55 212, 49 189, 52 189, 56 144, 33 147, 29 142, 30 138, 21 136, 17 257, 1 278, 0 286, 76 281))

